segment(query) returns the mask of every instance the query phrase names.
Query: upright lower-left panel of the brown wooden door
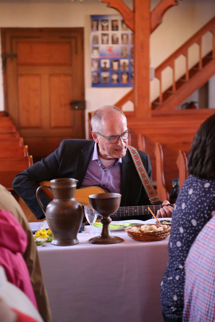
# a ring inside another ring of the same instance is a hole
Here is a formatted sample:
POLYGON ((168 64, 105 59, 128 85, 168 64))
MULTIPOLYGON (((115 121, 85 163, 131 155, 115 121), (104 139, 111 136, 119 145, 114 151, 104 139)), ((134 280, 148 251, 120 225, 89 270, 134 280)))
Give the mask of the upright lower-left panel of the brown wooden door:
POLYGON ((18 75, 19 127, 41 128, 40 75, 18 75))

